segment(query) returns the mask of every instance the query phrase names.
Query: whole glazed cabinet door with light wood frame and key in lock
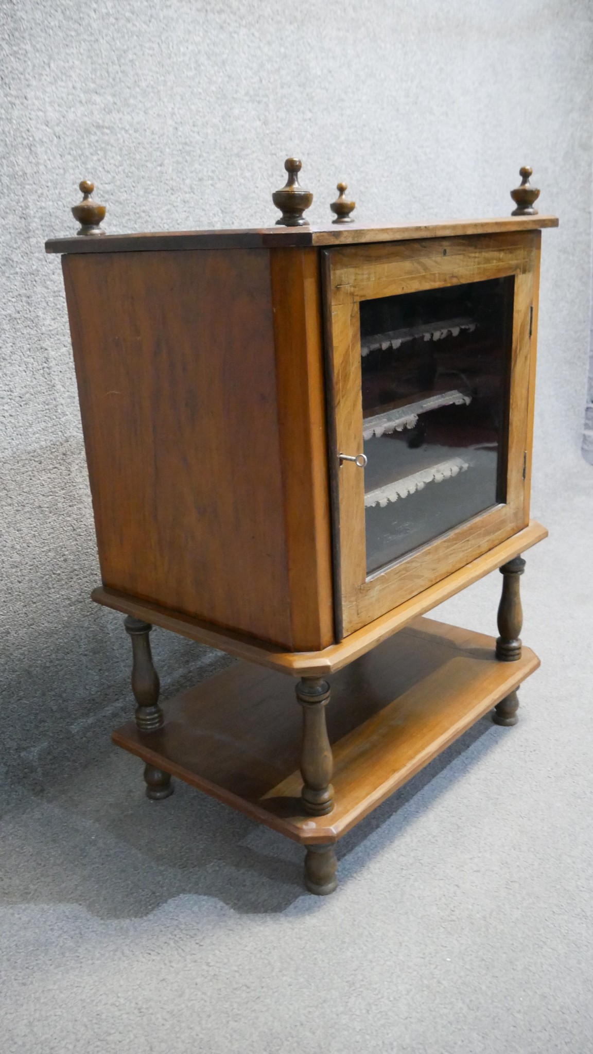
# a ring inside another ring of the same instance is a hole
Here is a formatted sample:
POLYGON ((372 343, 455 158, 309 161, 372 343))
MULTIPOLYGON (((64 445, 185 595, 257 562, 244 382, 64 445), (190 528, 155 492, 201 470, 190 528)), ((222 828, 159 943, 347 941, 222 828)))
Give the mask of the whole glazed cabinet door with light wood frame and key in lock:
POLYGON ((539 239, 324 251, 340 637, 528 524, 539 239))

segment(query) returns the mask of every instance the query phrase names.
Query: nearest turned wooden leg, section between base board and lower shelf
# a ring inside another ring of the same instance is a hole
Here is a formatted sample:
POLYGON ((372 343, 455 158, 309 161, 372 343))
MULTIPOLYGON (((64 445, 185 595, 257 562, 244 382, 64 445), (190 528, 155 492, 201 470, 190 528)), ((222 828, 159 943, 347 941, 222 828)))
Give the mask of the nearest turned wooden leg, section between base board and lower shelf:
POLYGON ((329 685, 321 677, 304 677, 296 685, 296 699, 303 707, 301 803, 305 813, 325 816, 333 808, 333 758, 325 724, 329 685))

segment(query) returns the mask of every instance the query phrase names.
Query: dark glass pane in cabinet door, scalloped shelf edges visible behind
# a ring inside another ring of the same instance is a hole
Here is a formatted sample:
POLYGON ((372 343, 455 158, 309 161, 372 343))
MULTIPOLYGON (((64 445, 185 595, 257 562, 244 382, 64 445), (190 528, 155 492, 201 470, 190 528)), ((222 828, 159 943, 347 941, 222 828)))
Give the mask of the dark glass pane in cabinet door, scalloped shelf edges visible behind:
POLYGON ((366 569, 504 502, 514 277, 360 305, 366 569))

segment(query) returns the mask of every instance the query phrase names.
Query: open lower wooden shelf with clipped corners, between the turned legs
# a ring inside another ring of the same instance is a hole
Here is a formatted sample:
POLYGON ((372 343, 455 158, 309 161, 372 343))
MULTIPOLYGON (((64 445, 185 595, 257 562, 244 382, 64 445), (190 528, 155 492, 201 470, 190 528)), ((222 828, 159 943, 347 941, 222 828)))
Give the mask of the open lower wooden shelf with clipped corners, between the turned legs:
POLYGON ((333 675, 327 816, 301 809, 301 709, 276 670, 236 663, 165 703, 162 728, 129 722, 112 738, 294 841, 334 842, 539 666, 529 648, 517 662, 494 648, 493 637, 420 618, 333 675))

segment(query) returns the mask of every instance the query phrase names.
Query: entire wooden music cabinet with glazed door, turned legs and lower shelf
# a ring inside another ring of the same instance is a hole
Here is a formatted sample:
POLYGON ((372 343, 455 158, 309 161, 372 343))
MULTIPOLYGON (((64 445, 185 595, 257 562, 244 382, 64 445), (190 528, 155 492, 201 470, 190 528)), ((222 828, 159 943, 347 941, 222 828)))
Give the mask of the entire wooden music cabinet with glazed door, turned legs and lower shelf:
POLYGON ((530 472, 539 229, 557 226, 338 218, 46 243, 93 599, 133 645, 136 720, 113 740, 150 798, 175 776, 303 843, 318 894, 333 843, 489 709, 514 724, 539 665, 519 575, 547 533, 530 472), (495 568, 498 640, 423 618, 495 568), (152 625, 241 662, 161 709, 152 625))

